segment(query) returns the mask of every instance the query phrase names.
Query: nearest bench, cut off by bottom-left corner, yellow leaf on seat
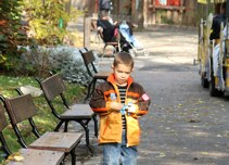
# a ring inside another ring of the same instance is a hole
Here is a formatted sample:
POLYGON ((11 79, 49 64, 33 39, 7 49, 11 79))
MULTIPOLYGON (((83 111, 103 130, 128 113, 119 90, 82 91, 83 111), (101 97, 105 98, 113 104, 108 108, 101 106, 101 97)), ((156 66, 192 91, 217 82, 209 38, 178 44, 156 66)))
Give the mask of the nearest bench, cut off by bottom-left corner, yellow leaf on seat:
POLYGON ((4 152, 4 158, 8 158, 8 165, 59 165, 64 158, 64 152, 48 151, 48 150, 34 150, 21 149, 18 153, 12 154, 3 136, 3 130, 8 127, 4 110, 0 104, 0 142, 1 150, 4 152))

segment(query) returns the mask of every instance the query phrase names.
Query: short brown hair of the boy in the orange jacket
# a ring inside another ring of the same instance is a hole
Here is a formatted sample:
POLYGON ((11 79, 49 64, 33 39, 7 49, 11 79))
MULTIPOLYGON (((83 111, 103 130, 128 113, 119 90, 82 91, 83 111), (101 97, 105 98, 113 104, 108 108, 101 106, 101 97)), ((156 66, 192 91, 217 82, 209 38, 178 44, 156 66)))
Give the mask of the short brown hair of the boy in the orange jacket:
POLYGON ((116 67, 118 64, 124 64, 133 68, 133 59, 127 52, 119 52, 114 58, 113 66, 116 67))

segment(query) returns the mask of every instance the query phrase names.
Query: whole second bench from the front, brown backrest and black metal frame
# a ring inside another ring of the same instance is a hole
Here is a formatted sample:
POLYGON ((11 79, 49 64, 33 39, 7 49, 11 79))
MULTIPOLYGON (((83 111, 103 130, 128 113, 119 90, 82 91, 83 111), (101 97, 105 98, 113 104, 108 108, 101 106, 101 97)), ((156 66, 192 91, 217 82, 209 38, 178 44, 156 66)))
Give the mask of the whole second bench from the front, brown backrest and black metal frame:
POLYGON ((80 142, 82 134, 76 132, 46 132, 40 136, 35 122, 34 116, 37 115, 37 109, 34 104, 30 94, 18 96, 15 98, 4 98, 1 96, 1 100, 4 103, 5 110, 9 114, 12 127, 17 137, 17 141, 23 148, 30 148, 37 150, 50 150, 64 152, 64 157, 71 154, 72 165, 76 164, 75 148, 80 142), (28 120, 28 123, 24 123, 28 120), (18 124, 30 125, 30 131, 37 137, 37 139, 26 144, 25 139, 21 134, 18 124))

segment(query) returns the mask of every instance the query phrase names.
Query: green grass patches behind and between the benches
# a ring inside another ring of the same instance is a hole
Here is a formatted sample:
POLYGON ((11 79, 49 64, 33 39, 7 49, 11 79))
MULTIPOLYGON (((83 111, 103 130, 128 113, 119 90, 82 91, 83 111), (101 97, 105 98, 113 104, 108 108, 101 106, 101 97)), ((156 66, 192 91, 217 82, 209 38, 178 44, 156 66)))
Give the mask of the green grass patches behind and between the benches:
MULTIPOLYGON (((39 88, 38 82, 33 77, 10 77, 10 76, 0 76, 0 93, 3 94, 7 98, 15 97, 17 96, 16 91, 14 90, 16 87, 24 86, 24 85, 30 85, 34 87, 39 88)), ((66 82, 67 92, 65 93, 65 97, 68 102, 78 102, 81 99, 81 96, 85 91, 85 87, 81 87, 77 84, 68 84, 66 82)), ((54 126, 58 124, 58 119, 51 114, 50 107, 47 104, 44 97, 40 96, 37 98, 34 98, 34 102, 38 110, 38 115, 34 117, 35 124, 39 130, 39 132, 42 135, 46 131, 53 130, 54 126)), ((56 100, 58 105, 59 100, 56 100)), ((58 105, 59 110, 61 111, 61 106, 58 105)), ((5 113, 5 117, 8 117, 8 114, 5 113)), ((16 141, 16 136, 13 131, 12 126, 10 125, 10 122, 8 119, 9 126, 3 130, 4 138, 7 139, 7 143, 10 148, 10 150, 13 152, 16 152, 22 147, 16 141)), ((23 123, 20 125, 20 128, 23 130, 23 137, 25 138, 25 141, 27 144, 33 142, 36 138, 34 135, 29 134, 30 127, 26 125, 26 123, 23 123)), ((0 164, 3 164, 3 157, 2 152, 0 152, 0 164)))

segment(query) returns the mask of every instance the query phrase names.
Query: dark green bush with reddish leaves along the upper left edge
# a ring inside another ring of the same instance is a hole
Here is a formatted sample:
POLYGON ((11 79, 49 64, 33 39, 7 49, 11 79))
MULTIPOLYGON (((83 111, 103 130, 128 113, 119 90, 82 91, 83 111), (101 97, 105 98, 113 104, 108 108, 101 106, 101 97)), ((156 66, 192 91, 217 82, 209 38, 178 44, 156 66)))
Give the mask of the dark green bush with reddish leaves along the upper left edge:
POLYGON ((0 1, 0 64, 1 69, 12 71, 21 55, 17 46, 28 43, 21 24, 23 0, 0 1))

